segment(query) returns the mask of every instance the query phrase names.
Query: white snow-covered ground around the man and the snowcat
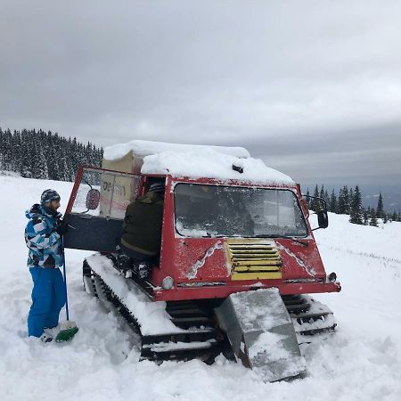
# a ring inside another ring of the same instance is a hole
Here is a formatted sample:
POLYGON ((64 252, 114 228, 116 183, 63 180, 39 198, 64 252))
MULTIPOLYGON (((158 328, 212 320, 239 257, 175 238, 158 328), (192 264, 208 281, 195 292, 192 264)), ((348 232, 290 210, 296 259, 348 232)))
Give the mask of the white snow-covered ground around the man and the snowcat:
MULTIPOLYGON (((0 176, 2 279, 0 281, 0 399, 5 400, 400 400, 401 224, 350 225, 330 216, 315 232, 339 294, 315 297, 339 323, 331 340, 305 350, 306 379, 263 383, 254 372, 219 357, 211 366, 194 360, 160 366, 138 362, 135 339, 124 323, 82 291, 87 252, 67 250, 70 315, 79 332, 70 344, 27 338, 31 279, 25 266, 25 209, 46 188, 65 207, 72 184, 0 176)), ((63 312, 61 312, 62 318, 63 312)))

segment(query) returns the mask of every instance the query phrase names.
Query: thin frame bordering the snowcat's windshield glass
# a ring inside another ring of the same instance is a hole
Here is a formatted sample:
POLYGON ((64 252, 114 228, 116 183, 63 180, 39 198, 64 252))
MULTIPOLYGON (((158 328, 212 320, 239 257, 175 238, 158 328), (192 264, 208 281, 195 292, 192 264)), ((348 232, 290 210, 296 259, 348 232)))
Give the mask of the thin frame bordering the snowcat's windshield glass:
POLYGON ((220 183, 220 182, 209 182, 209 181, 204 181, 201 180, 201 182, 197 181, 176 181, 174 183, 171 184, 171 192, 173 195, 173 199, 174 199, 174 220, 173 220, 173 224, 174 224, 174 231, 176 232, 177 235, 179 235, 180 238, 193 238, 193 239, 200 239, 200 238, 209 238, 209 239, 213 239, 213 238, 255 238, 255 239, 288 239, 288 238, 296 238, 296 239, 305 239, 308 238, 310 236, 310 226, 308 225, 307 222, 307 218, 305 216, 304 213, 304 209, 302 209, 302 205, 299 201, 299 196, 297 193, 296 188, 291 188, 291 187, 283 187, 283 186, 273 186, 273 185, 269 185, 269 186, 263 186, 263 185, 244 185, 244 184, 229 184, 227 182, 225 183, 220 183), (291 192, 292 196, 295 198, 296 200, 296 204, 299 208, 300 211, 300 218, 303 221, 305 228, 306 228, 306 233, 305 235, 214 235, 214 234, 208 234, 208 235, 190 235, 190 234, 186 234, 186 233, 180 233, 179 229, 177 228, 177 213, 176 213, 176 186, 180 185, 180 184, 192 184, 192 185, 210 185, 210 186, 219 186, 219 187, 235 187, 235 188, 246 188, 246 189, 255 189, 255 190, 272 190, 272 191, 286 191, 286 192, 291 192))

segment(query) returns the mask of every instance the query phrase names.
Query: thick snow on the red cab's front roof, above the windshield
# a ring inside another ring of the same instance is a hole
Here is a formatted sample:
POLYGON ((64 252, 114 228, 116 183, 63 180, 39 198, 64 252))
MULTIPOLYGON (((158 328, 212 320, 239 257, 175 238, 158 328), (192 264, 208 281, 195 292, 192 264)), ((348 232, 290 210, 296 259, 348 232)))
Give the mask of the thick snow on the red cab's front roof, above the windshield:
POLYGON ((291 177, 274 168, 268 168, 262 160, 238 158, 214 150, 160 152, 143 159, 143 174, 169 174, 175 177, 212 178, 238 180, 252 184, 294 185, 291 177), (233 165, 243 168, 235 171, 233 165))

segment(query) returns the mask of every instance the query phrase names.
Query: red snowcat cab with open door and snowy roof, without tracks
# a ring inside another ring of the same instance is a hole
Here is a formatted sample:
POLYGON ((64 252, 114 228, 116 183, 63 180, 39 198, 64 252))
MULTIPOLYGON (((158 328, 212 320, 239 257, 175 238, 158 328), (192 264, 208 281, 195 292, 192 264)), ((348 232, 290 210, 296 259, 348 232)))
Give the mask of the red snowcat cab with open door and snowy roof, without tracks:
POLYGON ((268 287, 282 295, 340 291, 324 271, 307 204, 290 177, 214 150, 148 156, 136 171, 79 169, 66 247, 115 252, 127 205, 162 181, 160 263, 141 283, 152 299, 225 298, 268 287))

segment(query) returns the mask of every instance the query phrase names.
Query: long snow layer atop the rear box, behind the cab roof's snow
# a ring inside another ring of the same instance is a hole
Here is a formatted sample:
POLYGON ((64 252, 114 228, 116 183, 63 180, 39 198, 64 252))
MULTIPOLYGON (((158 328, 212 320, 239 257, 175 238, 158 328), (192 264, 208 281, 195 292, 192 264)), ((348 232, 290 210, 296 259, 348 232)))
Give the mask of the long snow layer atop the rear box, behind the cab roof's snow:
POLYGON ((149 156, 151 154, 162 152, 196 152, 196 151, 217 151, 219 153, 228 154, 237 158, 249 158, 250 152, 241 147, 227 146, 209 146, 209 145, 193 145, 181 143, 164 143, 135 140, 128 143, 119 143, 104 148, 104 159, 119 160, 129 151, 133 151, 139 156, 149 156))

